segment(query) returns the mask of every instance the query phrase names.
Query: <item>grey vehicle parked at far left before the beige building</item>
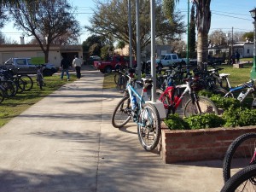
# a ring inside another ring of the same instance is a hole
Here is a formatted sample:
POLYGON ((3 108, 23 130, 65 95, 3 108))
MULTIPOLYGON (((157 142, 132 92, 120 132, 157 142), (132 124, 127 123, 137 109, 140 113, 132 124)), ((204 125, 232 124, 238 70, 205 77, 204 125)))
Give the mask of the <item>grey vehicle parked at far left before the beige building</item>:
MULTIPOLYGON (((5 67, 12 69, 13 73, 26 73, 26 74, 36 74, 37 65, 32 64, 31 58, 9 58, 3 64, 5 67)), ((45 63, 44 64, 44 76, 51 76, 56 73, 57 69, 54 64, 45 63)))

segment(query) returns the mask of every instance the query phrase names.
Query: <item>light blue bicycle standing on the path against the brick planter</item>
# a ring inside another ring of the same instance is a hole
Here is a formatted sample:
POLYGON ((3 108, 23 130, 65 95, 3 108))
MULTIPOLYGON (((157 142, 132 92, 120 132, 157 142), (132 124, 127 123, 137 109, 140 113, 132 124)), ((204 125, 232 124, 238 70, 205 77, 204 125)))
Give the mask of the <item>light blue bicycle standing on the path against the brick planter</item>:
POLYGON ((146 151, 151 151, 160 140, 160 114, 152 103, 145 102, 148 99, 147 90, 152 86, 152 79, 142 79, 143 92, 140 94, 134 88, 134 79, 128 74, 125 95, 113 110, 112 125, 120 128, 126 125, 130 119, 137 123, 137 134, 140 143, 146 151))

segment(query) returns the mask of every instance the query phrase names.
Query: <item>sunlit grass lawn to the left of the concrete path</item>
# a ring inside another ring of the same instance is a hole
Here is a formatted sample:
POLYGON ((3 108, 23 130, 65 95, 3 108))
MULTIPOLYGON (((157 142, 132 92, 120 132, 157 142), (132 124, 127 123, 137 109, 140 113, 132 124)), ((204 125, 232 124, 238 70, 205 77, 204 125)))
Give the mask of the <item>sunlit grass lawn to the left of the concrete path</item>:
POLYGON ((30 108, 33 104, 40 101, 44 96, 48 96, 55 90, 58 90, 63 84, 68 84, 75 80, 75 75, 71 75, 71 81, 61 81, 59 75, 53 75, 51 77, 44 77, 45 86, 44 90, 40 90, 36 84, 36 78, 32 78, 34 81, 32 90, 24 91, 17 94, 12 98, 6 98, 0 103, 0 127, 8 123, 8 121, 15 116, 19 115, 27 108, 30 108))

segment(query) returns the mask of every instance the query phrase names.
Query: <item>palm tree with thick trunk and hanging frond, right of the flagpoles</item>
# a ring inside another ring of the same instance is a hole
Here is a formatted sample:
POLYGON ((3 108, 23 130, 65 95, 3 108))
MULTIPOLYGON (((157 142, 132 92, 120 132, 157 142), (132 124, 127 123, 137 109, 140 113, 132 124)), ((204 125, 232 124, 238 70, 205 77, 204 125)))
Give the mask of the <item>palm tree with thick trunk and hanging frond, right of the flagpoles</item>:
MULTIPOLYGON (((172 19, 175 5, 179 0, 163 0, 165 13, 172 19)), ((208 57, 208 32, 211 27, 211 0, 194 0, 196 15, 195 23, 197 26, 197 65, 203 70, 203 62, 207 62, 208 57)))

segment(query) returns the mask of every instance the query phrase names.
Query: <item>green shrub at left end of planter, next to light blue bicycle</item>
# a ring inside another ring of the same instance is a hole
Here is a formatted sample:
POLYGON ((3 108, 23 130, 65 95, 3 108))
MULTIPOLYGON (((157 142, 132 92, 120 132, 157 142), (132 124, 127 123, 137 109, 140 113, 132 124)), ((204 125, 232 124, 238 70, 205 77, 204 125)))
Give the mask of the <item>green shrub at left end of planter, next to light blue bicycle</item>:
POLYGON ((170 130, 189 130, 189 124, 180 118, 177 113, 170 114, 164 122, 170 130))

